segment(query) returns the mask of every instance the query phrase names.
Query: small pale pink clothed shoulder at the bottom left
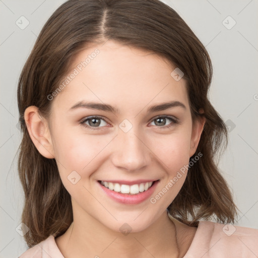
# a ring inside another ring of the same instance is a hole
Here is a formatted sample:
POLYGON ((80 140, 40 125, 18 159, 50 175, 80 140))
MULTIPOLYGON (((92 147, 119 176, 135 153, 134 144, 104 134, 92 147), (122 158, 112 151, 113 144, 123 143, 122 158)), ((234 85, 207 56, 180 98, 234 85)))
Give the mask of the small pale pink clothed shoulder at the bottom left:
POLYGON ((42 242, 27 249, 18 258, 42 258, 42 257, 64 258, 56 245, 53 235, 50 235, 42 242))

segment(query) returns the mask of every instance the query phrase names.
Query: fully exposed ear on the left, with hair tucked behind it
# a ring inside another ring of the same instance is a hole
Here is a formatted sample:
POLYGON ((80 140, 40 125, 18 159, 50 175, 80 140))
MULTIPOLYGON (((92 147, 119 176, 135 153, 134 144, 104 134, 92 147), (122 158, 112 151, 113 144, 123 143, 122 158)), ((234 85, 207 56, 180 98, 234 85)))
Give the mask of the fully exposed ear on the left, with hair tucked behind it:
POLYGON ((54 158, 51 135, 49 126, 43 119, 36 106, 29 106, 24 112, 24 119, 30 135, 30 138, 39 151, 39 153, 48 159, 54 158))

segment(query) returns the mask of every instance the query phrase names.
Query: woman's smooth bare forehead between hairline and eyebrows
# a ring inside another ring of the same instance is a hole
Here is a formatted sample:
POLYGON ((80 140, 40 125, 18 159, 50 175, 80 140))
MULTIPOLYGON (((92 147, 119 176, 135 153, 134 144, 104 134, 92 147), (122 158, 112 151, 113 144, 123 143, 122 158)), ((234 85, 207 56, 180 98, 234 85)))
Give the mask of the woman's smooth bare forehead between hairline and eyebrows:
POLYGON ((65 87, 54 102, 63 108, 80 100, 101 101, 119 109, 171 100, 187 106, 185 80, 174 80, 174 69, 156 53, 108 40, 76 55, 69 73, 60 82, 65 87))

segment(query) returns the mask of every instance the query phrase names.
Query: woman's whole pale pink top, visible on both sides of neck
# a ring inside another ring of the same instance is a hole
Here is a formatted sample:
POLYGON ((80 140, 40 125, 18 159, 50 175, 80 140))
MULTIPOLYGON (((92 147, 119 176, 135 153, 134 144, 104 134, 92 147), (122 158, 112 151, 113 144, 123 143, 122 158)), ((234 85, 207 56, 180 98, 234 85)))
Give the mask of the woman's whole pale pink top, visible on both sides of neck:
MULTIPOLYGON (((257 258, 258 229, 200 221, 183 258, 257 258)), ((18 258, 64 258, 54 236, 26 250, 18 258)))

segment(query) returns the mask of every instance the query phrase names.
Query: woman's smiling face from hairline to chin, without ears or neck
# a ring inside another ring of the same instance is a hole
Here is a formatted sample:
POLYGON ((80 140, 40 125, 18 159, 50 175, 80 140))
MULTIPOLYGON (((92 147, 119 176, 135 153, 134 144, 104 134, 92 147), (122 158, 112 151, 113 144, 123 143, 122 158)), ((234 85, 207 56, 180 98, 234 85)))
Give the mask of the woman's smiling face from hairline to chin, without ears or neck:
POLYGON ((51 151, 74 214, 137 232, 174 200, 201 132, 174 69, 157 54, 111 40, 76 56, 67 75, 73 79, 50 100, 49 118, 51 151))

